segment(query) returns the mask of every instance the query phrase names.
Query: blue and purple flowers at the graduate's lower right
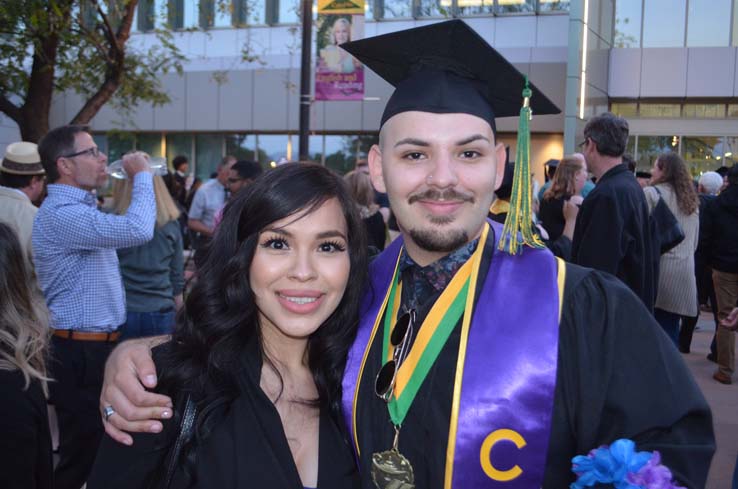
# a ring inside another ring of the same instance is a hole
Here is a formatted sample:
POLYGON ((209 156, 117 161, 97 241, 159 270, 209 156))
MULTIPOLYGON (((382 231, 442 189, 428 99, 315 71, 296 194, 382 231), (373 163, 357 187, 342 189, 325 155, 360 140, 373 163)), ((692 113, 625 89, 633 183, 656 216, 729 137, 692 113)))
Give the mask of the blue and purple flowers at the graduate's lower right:
POLYGON ((659 452, 636 452, 632 440, 620 439, 577 455, 572 460, 577 481, 569 489, 583 489, 597 484, 612 484, 615 489, 684 489, 661 465, 659 452))

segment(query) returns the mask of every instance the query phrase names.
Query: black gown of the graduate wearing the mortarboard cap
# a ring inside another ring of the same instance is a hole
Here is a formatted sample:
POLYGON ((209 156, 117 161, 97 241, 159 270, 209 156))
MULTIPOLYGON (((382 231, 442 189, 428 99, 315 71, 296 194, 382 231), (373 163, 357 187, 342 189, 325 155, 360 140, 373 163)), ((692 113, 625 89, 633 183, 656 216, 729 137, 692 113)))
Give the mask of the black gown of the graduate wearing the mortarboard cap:
MULTIPOLYGON (((494 266, 493 247, 490 235, 480 270, 494 266)), ((484 276, 477 283, 481 287, 484 276)), ((434 299, 418 309, 417 324, 434 299)), ((399 450, 413 465, 417 488, 443 488, 460 324, 430 369, 400 431, 399 450)), ((378 334, 371 346, 356 413, 366 489, 374 489, 371 454, 389 449, 394 435, 386 404, 374 394, 382 364, 381 338, 378 334)), ((685 486, 704 486, 715 450, 712 417, 679 353, 620 281, 567 264, 543 487, 569 487, 575 480, 572 457, 623 437, 635 440, 638 450, 658 450, 662 463, 685 486)))

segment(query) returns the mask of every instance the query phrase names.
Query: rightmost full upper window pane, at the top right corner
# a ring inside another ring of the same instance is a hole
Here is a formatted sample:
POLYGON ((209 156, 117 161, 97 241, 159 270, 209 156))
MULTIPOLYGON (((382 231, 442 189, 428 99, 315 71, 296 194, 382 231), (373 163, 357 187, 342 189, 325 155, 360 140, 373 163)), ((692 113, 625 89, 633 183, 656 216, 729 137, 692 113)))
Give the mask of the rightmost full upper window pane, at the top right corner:
POLYGON ((689 0, 687 46, 730 45, 731 0, 689 0))

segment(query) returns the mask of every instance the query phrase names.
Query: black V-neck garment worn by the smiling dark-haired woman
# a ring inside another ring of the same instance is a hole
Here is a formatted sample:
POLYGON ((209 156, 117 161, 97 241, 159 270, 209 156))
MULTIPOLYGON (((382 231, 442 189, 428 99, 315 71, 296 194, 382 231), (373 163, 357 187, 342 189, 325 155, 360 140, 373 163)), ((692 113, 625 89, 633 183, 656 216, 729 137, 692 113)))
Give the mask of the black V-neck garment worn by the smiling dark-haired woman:
MULTIPOLYGON (((240 396, 230 409, 214 414, 222 419, 196 451, 196 488, 303 487, 279 413, 259 387, 262 362, 256 342, 251 343, 238 375, 240 396)), ((184 400, 176 406, 184 409, 184 400)), ((168 453, 178 431, 178 424, 165 421, 161 434, 134 434, 131 447, 104 436, 87 488, 152 487, 157 471, 167 468, 168 453)), ((318 488, 358 488, 351 448, 337 422, 325 412, 320 415, 319 437, 318 488)), ((190 486, 184 482, 182 467, 178 467, 171 488, 184 487, 190 486)))

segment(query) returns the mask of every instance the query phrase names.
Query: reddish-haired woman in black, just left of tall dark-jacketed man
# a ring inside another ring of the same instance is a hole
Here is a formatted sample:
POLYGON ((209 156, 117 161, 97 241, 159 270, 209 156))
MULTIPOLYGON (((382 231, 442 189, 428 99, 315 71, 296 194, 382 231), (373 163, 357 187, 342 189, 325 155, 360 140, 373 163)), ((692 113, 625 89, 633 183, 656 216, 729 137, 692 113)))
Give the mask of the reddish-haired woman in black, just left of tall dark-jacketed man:
MULTIPOLYGON (((556 241, 564 233, 564 202, 574 198, 572 203, 581 204, 580 193, 586 182, 587 163, 583 158, 566 156, 559 162, 551 186, 543 193, 538 211, 538 218, 550 241, 556 241)), ((569 239, 573 237, 573 229, 571 231, 569 239)))

